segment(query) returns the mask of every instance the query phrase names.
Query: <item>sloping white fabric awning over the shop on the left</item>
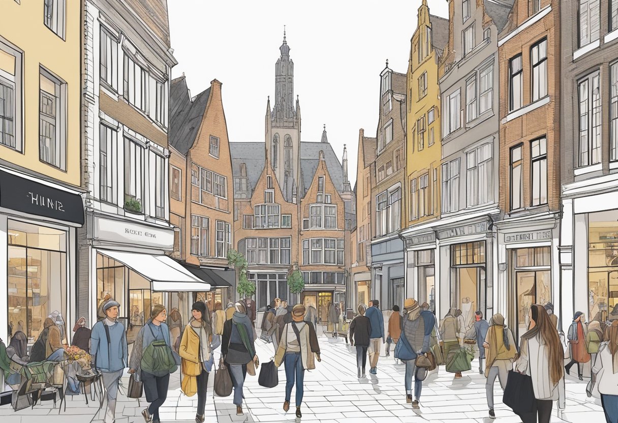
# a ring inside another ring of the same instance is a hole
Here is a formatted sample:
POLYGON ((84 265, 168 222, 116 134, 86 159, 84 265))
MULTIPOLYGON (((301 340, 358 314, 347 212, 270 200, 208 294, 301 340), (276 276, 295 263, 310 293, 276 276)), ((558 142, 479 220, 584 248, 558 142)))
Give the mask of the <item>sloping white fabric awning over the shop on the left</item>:
POLYGON ((167 255, 99 250, 150 280, 153 291, 210 291, 210 283, 197 278, 167 255))

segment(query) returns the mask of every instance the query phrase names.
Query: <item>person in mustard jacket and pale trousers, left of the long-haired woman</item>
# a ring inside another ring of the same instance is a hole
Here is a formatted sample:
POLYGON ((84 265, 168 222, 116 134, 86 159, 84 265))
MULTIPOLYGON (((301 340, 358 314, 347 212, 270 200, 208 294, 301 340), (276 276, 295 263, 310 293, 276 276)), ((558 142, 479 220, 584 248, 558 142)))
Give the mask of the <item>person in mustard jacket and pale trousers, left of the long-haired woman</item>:
POLYGON ((496 377, 499 379, 502 390, 506 388, 506 381, 509 370, 517 356, 517 347, 512 331, 504 324, 504 317, 496 313, 489 320, 489 328, 485 338, 483 338, 483 349, 485 350, 485 391, 487 395, 487 405, 489 406, 489 417, 496 418, 494 413, 494 382, 496 377))

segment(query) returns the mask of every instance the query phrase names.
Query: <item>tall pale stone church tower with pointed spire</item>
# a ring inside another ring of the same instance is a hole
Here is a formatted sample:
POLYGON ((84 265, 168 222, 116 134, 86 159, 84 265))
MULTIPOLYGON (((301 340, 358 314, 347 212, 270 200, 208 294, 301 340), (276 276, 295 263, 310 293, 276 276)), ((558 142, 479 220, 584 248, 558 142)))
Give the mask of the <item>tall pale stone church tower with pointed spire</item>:
POLYGON ((294 62, 290 59, 285 30, 279 51, 274 106, 271 109, 268 100, 266 107, 266 154, 285 199, 293 202, 300 183, 300 103, 298 97, 294 102, 294 62))

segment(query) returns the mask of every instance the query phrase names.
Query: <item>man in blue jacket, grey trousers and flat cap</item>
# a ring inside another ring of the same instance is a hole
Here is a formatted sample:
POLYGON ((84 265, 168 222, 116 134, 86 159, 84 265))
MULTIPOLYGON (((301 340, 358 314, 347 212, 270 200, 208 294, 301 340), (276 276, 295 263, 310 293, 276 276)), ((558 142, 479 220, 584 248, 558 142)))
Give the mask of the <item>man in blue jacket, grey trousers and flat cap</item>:
POLYGON ((95 323, 90 335, 93 367, 101 372, 103 387, 108 399, 104 423, 114 422, 118 382, 127 367, 129 358, 124 325, 117 320, 119 309, 120 304, 110 298, 101 309, 106 317, 95 323))

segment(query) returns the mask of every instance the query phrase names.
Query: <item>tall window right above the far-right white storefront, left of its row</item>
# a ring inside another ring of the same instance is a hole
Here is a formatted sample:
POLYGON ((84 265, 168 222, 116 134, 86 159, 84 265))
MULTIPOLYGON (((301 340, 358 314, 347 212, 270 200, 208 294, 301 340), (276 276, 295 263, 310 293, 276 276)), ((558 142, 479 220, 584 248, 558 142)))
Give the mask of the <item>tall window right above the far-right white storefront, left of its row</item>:
POLYGON ((599 72, 578 82, 580 166, 601 163, 601 87, 599 72))

